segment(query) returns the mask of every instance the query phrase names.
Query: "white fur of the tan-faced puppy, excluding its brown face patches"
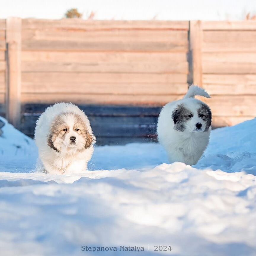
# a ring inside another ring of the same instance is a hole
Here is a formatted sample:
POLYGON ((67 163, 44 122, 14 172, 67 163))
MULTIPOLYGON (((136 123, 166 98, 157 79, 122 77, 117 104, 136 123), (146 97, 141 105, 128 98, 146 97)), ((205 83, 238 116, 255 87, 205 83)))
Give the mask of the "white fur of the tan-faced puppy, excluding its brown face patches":
MULTIPOLYGON (((71 103, 57 103, 48 107, 36 122, 34 140, 39 150, 37 171, 44 171, 49 174, 71 174, 81 173, 87 169, 87 164, 94 151, 93 145, 83 151, 78 151, 75 146, 68 147, 68 142, 64 141, 64 146, 60 149, 60 152, 56 152, 47 144, 50 128, 54 119, 60 114, 65 113, 79 115, 86 123, 88 131, 92 134, 89 119, 78 106, 71 103)), ((72 126, 74 123, 72 115, 67 115, 65 118, 67 119, 67 124, 72 126)), ((71 130, 69 136, 73 135, 75 135, 74 131, 71 130)), ((77 139, 79 138, 77 137, 77 139)))

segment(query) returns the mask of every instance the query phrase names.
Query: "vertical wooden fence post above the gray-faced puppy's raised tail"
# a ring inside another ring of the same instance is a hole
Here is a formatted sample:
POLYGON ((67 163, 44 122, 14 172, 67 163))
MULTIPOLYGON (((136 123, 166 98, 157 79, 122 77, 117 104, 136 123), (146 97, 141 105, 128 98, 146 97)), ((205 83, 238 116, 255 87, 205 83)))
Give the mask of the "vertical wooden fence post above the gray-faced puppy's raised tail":
POLYGON ((203 85, 203 72, 202 72, 202 41, 203 31, 201 20, 191 20, 189 23, 189 49, 192 55, 192 76, 193 84, 203 85))

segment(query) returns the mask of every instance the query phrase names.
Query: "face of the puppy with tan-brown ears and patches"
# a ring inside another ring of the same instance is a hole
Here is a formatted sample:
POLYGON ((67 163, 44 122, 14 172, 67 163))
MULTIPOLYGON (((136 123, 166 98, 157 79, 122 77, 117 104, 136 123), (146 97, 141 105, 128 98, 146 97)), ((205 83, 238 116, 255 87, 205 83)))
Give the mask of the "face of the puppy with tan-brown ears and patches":
POLYGON ((94 135, 79 115, 63 113, 53 121, 47 143, 57 152, 62 148, 82 151, 89 148, 94 140, 94 135))

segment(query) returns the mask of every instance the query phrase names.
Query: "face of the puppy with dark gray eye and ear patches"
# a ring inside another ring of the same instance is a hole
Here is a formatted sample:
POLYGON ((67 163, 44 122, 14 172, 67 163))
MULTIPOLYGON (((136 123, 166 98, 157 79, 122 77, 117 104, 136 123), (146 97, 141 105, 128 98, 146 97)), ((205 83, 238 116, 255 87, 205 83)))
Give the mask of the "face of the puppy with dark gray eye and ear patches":
POLYGON ((212 112, 203 102, 180 104, 172 112, 174 129, 179 132, 206 132, 212 123, 212 112))

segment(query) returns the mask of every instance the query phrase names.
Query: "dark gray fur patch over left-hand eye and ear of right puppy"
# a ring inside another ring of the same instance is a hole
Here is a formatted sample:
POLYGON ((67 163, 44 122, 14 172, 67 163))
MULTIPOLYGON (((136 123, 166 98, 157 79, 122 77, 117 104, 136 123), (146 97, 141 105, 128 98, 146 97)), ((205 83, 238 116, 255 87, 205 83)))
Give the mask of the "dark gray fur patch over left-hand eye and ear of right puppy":
MULTIPOLYGON (((179 132, 183 132, 185 130, 185 122, 188 121, 192 115, 191 111, 189 111, 183 104, 177 106, 177 108, 172 111, 172 119, 174 122, 174 129, 179 132)), ((192 115, 193 116, 193 115, 192 115)))

